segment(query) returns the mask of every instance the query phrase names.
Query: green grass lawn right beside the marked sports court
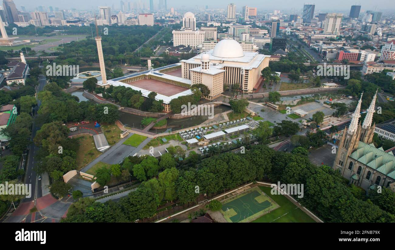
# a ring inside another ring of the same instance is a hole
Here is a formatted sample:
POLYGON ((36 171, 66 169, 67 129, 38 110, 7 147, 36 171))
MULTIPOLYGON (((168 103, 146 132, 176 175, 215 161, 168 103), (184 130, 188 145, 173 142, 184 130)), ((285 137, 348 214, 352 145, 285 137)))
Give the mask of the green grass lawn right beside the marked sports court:
POLYGON ((280 205, 280 207, 252 222, 315 222, 284 195, 272 195, 270 192, 271 187, 260 186, 259 188, 280 205))

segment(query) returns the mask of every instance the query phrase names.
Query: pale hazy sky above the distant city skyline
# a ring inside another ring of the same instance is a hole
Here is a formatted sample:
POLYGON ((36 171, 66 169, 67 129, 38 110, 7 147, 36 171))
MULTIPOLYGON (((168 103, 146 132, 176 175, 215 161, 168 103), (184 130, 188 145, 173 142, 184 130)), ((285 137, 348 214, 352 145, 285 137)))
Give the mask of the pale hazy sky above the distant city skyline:
MULTIPOLYGON (((149 0, 142 0, 149 1, 149 0)), ((130 2, 135 2, 135 0, 130 0, 130 2)), ((159 0, 154 0, 154 5, 158 5, 159 0)), ((296 10, 302 9, 304 3, 312 3, 315 4, 315 10, 320 11, 323 10, 349 10, 351 5, 361 5, 362 10, 389 10, 394 9, 393 0, 315 0, 312 2, 306 2, 302 0, 199 0, 199 1, 191 1, 191 0, 167 0, 167 8, 177 7, 177 6, 186 6, 190 8, 195 8, 196 4, 204 6, 209 5, 209 8, 224 8, 226 9, 227 5, 233 2, 237 5, 237 10, 241 9, 241 6, 248 5, 251 7, 257 7, 258 10, 290 10, 291 8, 295 8, 296 10), (215 4, 213 4, 215 2, 215 4)), ((100 6, 112 6, 114 4, 115 9, 119 9, 120 0, 14 0, 17 9, 20 10, 21 5, 25 6, 27 9, 33 9, 37 6, 53 6, 59 7, 61 9, 92 9, 100 6)))

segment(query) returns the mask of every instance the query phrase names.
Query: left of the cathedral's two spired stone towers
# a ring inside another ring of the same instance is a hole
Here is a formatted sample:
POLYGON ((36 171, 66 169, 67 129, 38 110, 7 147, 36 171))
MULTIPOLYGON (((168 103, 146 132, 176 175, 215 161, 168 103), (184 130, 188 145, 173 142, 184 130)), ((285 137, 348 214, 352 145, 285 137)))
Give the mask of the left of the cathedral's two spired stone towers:
POLYGON ((339 147, 337 148, 335 162, 333 163, 333 169, 339 169, 342 175, 346 167, 348 156, 358 147, 359 134, 361 133, 361 125, 358 125, 358 119, 361 117, 362 95, 363 93, 361 94, 354 114, 352 114, 350 126, 348 129, 347 127, 344 128, 339 147))

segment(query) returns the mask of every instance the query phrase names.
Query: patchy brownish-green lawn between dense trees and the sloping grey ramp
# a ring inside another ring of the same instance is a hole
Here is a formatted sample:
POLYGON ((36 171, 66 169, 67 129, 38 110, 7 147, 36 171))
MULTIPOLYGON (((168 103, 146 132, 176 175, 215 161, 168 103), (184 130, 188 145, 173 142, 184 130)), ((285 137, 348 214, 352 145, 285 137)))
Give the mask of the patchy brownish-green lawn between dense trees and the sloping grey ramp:
POLYGON ((96 149, 95 142, 93 140, 93 136, 88 134, 79 134, 77 136, 73 136, 73 138, 77 138, 79 141, 79 150, 77 153, 77 170, 82 169, 88 163, 96 159, 102 153, 96 149))

